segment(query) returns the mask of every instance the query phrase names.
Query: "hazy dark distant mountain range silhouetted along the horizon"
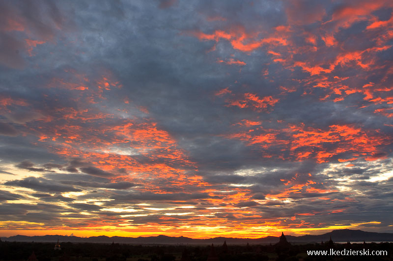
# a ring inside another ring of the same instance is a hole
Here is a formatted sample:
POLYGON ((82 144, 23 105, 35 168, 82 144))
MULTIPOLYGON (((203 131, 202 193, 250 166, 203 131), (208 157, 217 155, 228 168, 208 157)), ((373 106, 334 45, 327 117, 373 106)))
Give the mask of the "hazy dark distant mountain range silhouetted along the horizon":
MULTIPOLYGON (((365 232, 362 230, 334 230, 332 232, 323 235, 302 235, 292 236, 286 235, 289 242, 294 243, 310 243, 310 242, 321 242, 328 241, 332 237, 335 242, 393 242, 393 233, 376 233, 376 232, 365 232)), ((227 244, 275 244, 279 241, 278 236, 266 236, 261 238, 233 238, 233 237, 214 237, 209 239, 194 239, 190 237, 172 237, 166 235, 159 236, 147 236, 147 237, 122 237, 122 236, 90 236, 90 237, 78 237, 78 236, 67 236, 67 235, 15 235, 10 237, 1 237, 2 241, 27 241, 27 242, 56 242, 57 239, 60 242, 91 242, 91 243, 127 243, 127 244, 217 244, 221 245, 226 240, 227 244)))

